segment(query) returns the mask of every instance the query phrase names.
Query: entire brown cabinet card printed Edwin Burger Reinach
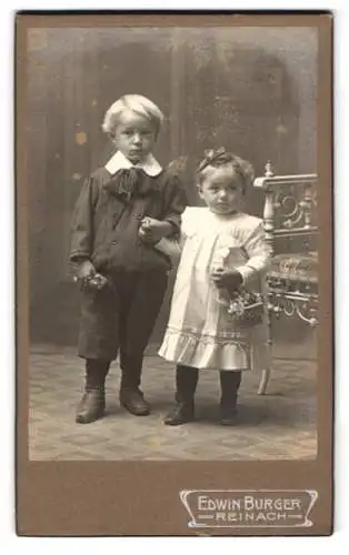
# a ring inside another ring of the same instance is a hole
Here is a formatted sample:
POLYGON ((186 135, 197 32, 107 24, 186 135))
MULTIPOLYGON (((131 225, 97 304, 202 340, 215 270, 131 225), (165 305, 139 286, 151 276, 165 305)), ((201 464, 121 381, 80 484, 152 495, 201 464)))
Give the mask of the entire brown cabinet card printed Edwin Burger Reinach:
POLYGON ((331 533, 331 33, 17 14, 19 535, 331 533))

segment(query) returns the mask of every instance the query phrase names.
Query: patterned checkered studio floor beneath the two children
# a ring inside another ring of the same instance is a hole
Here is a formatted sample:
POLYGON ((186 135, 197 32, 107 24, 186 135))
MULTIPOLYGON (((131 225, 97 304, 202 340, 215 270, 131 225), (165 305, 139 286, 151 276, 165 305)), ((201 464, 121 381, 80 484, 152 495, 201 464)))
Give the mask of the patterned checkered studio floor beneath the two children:
POLYGON ((112 366, 107 416, 74 423, 83 361, 74 350, 36 345, 31 354, 30 458, 52 460, 270 460, 316 456, 316 364, 275 360, 268 394, 257 395, 259 375, 245 374, 240 425, 218 422, 218 375, 202 373, 197 393, 198 422, 162 424, 172 404, 173 370, 161 359, 144 361, 143 391, 152 404, 148 417, 134 417, 118 404, 119 374, 112 366))

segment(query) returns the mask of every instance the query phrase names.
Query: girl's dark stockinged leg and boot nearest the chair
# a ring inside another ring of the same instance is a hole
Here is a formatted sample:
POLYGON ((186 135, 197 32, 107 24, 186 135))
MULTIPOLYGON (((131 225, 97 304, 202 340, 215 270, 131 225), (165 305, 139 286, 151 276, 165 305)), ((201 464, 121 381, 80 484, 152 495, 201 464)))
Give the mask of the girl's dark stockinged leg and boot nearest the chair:
POLYGON ((221 400, 220 400, 220 423, 222 426, 235 426, 237 424, 238 411, 237 400, 241 383, 241 372, 220 372, 221 400))

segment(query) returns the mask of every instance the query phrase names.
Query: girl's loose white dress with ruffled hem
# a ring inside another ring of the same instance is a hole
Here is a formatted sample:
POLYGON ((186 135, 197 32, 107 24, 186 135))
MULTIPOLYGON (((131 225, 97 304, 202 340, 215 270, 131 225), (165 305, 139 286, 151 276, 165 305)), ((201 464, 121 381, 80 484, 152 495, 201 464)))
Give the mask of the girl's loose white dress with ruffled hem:
POLYGON ((197 369, 266 367, 266 321, 238 325, 211 279, 217 266, 237 268, 247 289, 261 291, 270 260, 262 221, 245 213, 219 215, 208 208, 187 208, 181 234, 182 254, 160 356, 197 369))

